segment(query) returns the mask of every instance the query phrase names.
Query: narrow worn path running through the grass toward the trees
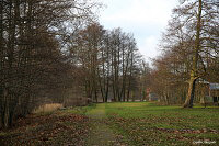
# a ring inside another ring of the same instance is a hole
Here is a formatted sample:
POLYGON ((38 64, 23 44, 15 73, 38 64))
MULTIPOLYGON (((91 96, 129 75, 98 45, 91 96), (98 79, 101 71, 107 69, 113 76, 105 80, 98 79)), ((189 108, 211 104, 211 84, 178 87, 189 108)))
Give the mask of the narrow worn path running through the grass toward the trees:
POLYGON ((88 146, 125 146, 118 142, 118 136, 111 130, 103 120, 105 119, 105 104, 97 104, 89 111, 88 116, 92 119, 92 132, 87 139, 88 146))

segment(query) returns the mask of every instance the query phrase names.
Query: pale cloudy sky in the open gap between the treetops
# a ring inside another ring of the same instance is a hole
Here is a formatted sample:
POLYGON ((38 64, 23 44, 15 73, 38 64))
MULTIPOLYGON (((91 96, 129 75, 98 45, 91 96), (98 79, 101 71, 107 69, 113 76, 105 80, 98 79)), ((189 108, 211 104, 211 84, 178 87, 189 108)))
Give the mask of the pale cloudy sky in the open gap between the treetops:
POLYGON ((132 33, 138 48, 146 57, 158 55, 158 42, 171 18, 177 0, 102 0, 107 7, 100 22, 105 29, 122 27, 132 33))

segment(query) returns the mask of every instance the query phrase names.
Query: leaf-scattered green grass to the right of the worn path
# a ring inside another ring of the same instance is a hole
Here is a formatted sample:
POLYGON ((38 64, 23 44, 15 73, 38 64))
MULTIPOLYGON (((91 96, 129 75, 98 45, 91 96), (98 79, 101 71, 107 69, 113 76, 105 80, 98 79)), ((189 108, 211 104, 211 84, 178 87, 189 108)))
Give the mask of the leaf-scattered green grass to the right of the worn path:
POLYGON ((183 109, 151 102, 106 103, 103 106, 106 123, 122 134, 128 145, 192 145, 205 139, 219 144, 218 108, 183 109))

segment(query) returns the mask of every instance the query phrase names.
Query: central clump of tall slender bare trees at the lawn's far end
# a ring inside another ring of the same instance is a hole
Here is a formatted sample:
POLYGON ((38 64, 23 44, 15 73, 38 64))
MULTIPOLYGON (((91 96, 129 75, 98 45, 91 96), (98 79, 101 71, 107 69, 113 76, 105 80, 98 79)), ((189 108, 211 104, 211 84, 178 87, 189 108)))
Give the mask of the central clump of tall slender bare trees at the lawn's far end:
POLYGON ((93 23, 73 35, 69 50, 74 64, 83 70, 80 76, 88 98, 96 102, 140 98, 139 78, 145 61, 131 34, 120 29, 104 30, 93 23))

